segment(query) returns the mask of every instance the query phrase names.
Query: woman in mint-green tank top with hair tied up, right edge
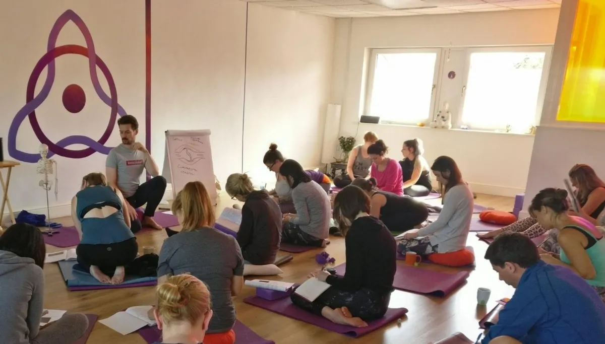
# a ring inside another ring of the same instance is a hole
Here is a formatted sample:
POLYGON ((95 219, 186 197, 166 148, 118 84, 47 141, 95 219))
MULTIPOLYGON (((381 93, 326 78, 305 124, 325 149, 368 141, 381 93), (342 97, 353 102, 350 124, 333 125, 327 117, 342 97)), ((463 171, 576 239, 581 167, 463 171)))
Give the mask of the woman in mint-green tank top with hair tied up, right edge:
POLYGON ((605 302, 605 239, 594 225, 578 216, 567 215, 567 191, 544 189, 532 200, 529 213, 545 229, 558 230, 560 256, 541 251, 548 264, 571 268, 586 280, 605 302))

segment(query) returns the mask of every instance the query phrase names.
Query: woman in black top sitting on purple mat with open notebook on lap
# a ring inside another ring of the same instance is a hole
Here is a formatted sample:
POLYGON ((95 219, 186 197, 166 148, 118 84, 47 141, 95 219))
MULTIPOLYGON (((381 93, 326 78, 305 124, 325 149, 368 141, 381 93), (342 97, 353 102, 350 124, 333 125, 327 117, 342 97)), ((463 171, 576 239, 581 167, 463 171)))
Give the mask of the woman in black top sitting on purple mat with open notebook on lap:
POLYGON ((313 273, 332 287, 313 302, 293 293, 292 303, 332 322, 356 327, 365 327, 387 313, 397 268, 396 244, 387 227, 368 212, 370 198, 359 187, 347 186, 336 195, 334 218, 346 237, 347 271, 344 276, 324 270, 313 273))

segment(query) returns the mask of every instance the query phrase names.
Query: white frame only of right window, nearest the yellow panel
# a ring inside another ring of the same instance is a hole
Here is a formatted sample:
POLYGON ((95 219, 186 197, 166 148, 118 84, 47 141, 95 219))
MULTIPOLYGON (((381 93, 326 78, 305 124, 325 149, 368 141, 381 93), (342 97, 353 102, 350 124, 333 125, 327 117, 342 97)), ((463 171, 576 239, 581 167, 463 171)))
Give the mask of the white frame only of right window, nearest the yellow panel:
MULTIPOLYGON (((505 131, 504 128, 480 128, 473 126, 472 123, 463 123, 463 111, 466 102, 466 86, 468 85, 468 77, 471 73, 471 54, 473 53, 545 53, 544 65, 542 67, 542 74, 540 78, 540 86, 538 86, 538 99, 535 107, 535 126, 540 124, 540 117, 542 115, 542 109, 544 107, 544 100, 546 96, 546 84, 548 83, 548 74, 551 67, 552 59, 552 45, 515 45, 515 46, 500 46, 500 47, 468 47, 466 48, 466 60, 464 66, 464 82, 463 90, 461 92, 462 99, 460 99, 460 108, 457 109, 457 115, 454 121, 452 118, 452 127, 460 128, 461 125, 466 124, 473 130, 479 131, 505 131)), ((529 128, 528 128, 529 129, 529 128)))

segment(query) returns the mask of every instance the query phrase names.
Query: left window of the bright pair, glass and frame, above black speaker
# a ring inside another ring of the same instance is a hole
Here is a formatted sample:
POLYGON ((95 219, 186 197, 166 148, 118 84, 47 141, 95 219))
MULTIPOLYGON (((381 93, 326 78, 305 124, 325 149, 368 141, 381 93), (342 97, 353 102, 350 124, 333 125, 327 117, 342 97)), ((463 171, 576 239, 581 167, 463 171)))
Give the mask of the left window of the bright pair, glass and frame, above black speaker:
POLYGON ((440 49, 375 49, 366 112, 382 123, 418 123, 431 117, 440 49))

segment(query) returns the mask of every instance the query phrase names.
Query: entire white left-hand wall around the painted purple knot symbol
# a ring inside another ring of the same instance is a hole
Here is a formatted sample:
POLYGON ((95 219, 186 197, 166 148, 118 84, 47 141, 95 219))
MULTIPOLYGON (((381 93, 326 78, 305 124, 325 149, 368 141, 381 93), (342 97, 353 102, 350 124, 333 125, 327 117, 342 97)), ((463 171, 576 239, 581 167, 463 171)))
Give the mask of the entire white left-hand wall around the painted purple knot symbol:
MULTIPOLYGON (((0 13, 11 13, 0 21, 0 44, 10 47, 0 50, 0 137, 4 137, 6 160, 11 160, 6 148, 8 127, 24 105, 31 70, 46 52, 54 21, 68 9, 76 11, 90 28, 97 54, 116 81, 119 103, 139 118, 138 140, 145 142, 144 3, 2 2, 0 13)), ((247 6, 237 0, 152 2, 151 152, 160 167, 167 129, 211 129, 215 173, 223 183, 229 174, 242 169, 267 174, 261 158, 270 141, 305 166, 319 163, 335 19, 257 4, 250 4, 246 13, 247 6), (289 128, 282 129, 286 126, 289 128)), ((58 45, 63 44, 85 45, 73 24, 60 34, 58 45)), ((97 139, 107 126, 110 111, 94 94, 87 63, 84 57, 73 55, 57 59, 53 89, 37 110, 42 129, 53 142, 68 135, 97 139), (67 112, 60 100, 70 83, 86 92, 87 103, 79 114, 67 112)), ((36 92, 44 77, 42 73, 36 92)), ((116 126, 107 145, 119 143, 116 126)), ((19 131, 18 148, 37 153, 38 147, 26 119, 19 131)), ((105 155, 53 158, 59 163, 59 198, 51 199, 51 217, 65 216, 80 178, 103 171, 105 155)), ((23 163, 13 170, 9 196, 15 212, 45 212, 39 180, 33 164, 23 163)))

